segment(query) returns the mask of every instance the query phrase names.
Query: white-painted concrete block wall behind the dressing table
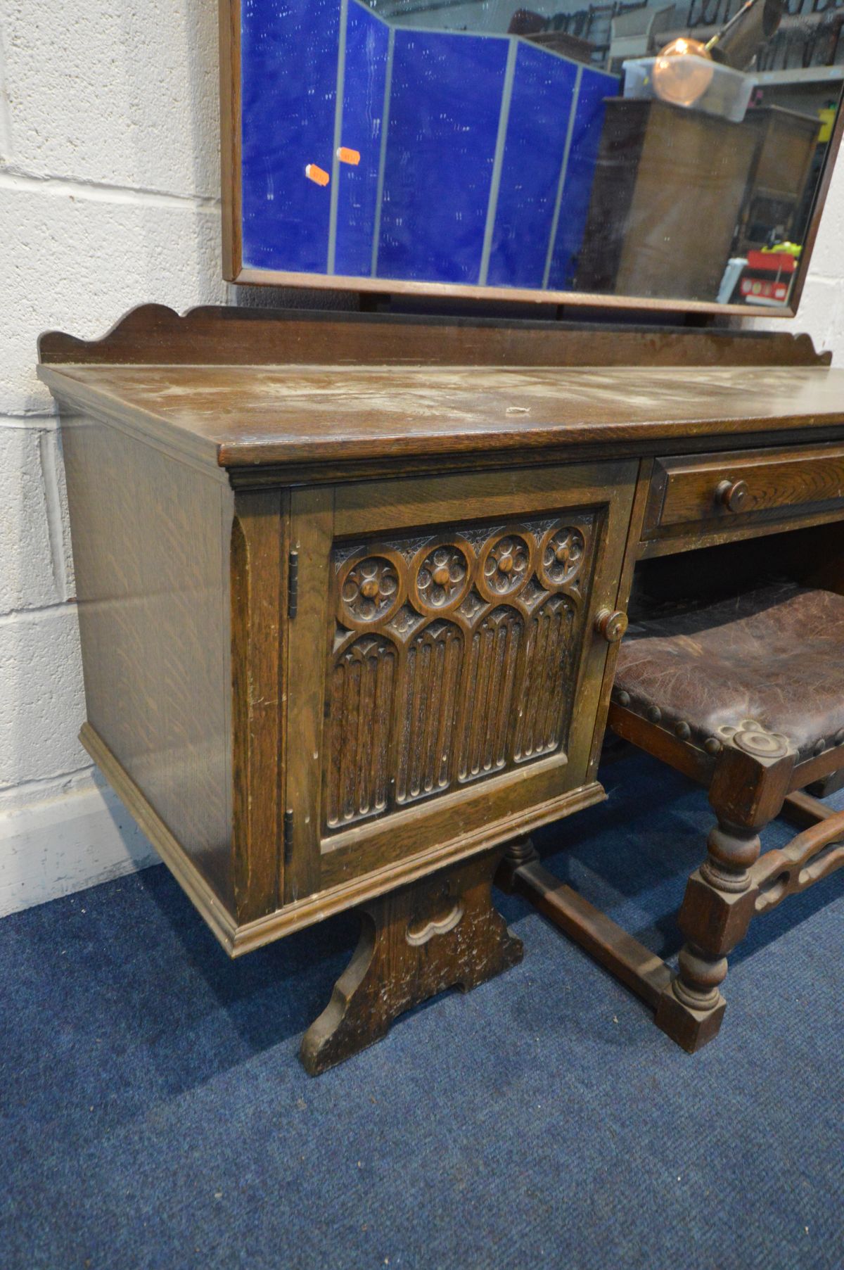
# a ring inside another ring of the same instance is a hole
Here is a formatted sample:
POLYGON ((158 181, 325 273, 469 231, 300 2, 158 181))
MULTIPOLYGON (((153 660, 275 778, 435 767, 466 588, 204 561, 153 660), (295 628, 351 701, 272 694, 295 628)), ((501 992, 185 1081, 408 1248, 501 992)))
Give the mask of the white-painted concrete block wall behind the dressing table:
MULTIPOLYGON (((156 857, 91 770, 56 417, 36 339, 221 282, 216 5, 6 0, 0 27, 0 913, 156 857)), ((844 362, 844 163, 797 330, 844 362)), ((289 293, 278 302, 353 306, 289 293)))

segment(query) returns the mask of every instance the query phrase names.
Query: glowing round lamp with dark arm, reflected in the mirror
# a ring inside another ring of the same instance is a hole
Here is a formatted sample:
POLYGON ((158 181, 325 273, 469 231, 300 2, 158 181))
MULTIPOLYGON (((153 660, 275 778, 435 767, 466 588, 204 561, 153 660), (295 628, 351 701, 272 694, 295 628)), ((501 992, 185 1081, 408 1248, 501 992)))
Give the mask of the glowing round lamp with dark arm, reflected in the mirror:
POLYGON ((783 0, 748 0, 706 44, 680 37, 666 44, 654 61, 654 89, 673 105, 694 105, 715 75, 715 62, 741 71, 777 32, 783 0))

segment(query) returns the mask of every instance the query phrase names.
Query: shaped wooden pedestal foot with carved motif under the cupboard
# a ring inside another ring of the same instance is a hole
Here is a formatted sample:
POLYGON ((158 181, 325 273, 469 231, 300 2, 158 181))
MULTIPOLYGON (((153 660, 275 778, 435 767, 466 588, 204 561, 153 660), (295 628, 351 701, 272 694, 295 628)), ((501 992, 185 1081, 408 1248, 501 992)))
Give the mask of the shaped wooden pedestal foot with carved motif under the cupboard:
POLYGON ((319 1076, 387 1034, 445 988, 463 992, 518 965, 522 941, 492 907, 501 850, 402 886, 360 909, 360 941, 300 1057, 319 1076))

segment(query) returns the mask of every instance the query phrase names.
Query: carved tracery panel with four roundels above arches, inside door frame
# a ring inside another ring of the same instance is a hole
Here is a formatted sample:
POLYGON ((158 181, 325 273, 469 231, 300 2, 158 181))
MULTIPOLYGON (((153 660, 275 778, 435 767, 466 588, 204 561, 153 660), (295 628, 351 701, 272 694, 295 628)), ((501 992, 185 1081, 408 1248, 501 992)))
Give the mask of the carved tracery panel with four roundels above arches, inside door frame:
POLYGON ((325 832, 565 752, 598 527, 335 546, 325 832))

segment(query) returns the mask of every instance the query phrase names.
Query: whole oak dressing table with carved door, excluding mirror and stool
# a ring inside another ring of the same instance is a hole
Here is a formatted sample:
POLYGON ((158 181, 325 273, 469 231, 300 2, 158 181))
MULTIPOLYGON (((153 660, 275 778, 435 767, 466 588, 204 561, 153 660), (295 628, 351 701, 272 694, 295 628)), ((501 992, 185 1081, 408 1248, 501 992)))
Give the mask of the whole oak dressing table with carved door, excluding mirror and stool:
POLYGON ((520 959, 491 881, 604 796, 638 560, 821 535, 844 591, 807 337, 150 305, 39 375, 85 747, 231 955, 360 909, 310 1072, 520 959))

